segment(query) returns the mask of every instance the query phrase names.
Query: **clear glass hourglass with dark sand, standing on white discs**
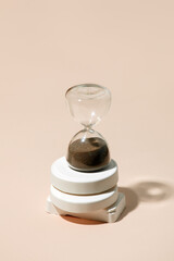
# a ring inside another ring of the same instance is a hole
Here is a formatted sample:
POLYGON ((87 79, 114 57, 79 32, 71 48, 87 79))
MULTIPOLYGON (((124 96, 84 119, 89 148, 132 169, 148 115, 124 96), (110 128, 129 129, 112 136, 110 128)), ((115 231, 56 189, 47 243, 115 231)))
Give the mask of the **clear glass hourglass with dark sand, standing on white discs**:
POLYGON ((65 94, 74 120, 84 126, 69 144, 66 161, 77 171, 98 171, 110 163, 110 151, 105 139, 92 127, 109 111, 111 92, 96 84, 82 84, 65 94))

